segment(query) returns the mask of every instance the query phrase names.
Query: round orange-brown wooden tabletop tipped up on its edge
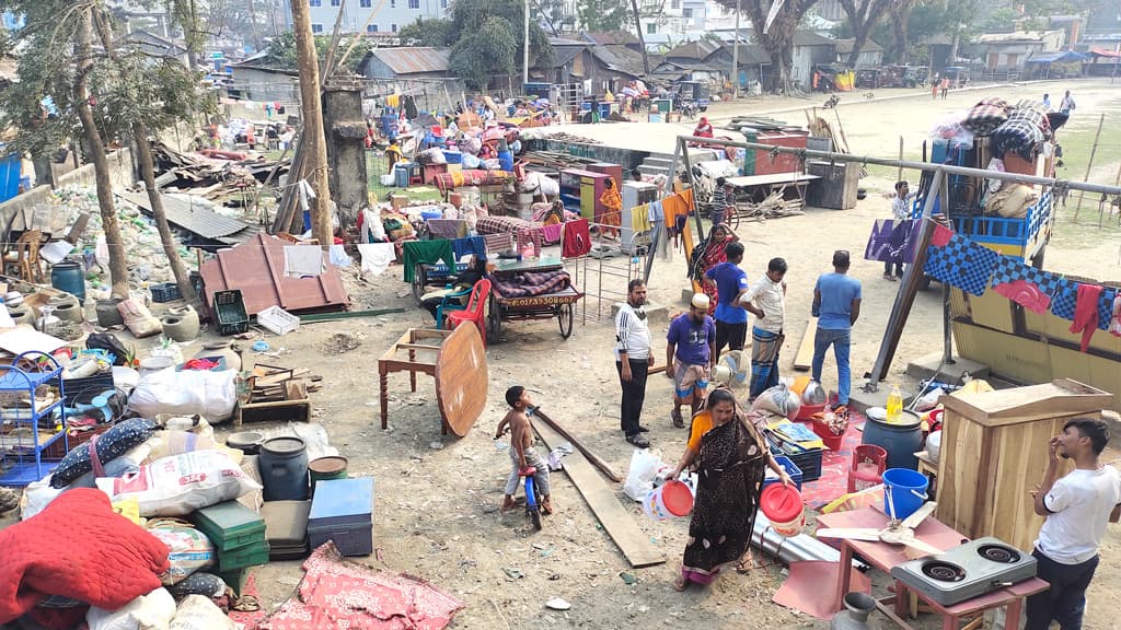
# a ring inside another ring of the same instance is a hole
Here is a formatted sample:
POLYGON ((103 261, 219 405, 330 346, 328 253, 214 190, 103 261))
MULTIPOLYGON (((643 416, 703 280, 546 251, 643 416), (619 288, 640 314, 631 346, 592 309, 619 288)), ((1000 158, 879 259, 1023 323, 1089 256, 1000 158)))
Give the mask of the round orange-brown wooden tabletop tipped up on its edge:
POLYGON ((455 435, 467 435, 487 405, 487 350, 474 324, 460 325, 436 355, 436 401, 455 435))

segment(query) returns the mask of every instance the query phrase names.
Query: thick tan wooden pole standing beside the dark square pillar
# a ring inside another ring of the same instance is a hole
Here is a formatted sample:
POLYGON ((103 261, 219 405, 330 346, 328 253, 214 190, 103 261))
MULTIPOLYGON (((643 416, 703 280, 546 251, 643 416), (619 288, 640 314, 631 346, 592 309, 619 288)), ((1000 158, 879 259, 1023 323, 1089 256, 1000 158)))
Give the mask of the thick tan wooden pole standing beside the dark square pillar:
POLYGON ((305 172, 315 191, 312 204, 312 235, 326 250, 334 242, 331 224, 331 191, 327 184, 327 139, 323 130, 323 100, 319 95, 319 61, 312 34, 312 13, 307 0, 291 2, 293 31, 296 34, 296 59, 299 68, 299 102, 304 110, 305 172))

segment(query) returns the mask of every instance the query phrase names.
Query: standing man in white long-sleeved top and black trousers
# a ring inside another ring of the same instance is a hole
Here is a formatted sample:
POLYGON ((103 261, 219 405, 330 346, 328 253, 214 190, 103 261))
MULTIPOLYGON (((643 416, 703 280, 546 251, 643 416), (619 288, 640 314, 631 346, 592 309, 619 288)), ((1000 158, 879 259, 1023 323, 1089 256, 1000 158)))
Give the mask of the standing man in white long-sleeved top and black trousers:
POLYGON ((646 401, 646 377, 654 363, 650 326, 643 306, 646 282, 636 278, 627 286, 627 304, 615 314, 615 370, 623 390, 619 424, 627 442, 639 448, 650 446, 642 435, 650 429, 639 424, 639 417, 646 401))

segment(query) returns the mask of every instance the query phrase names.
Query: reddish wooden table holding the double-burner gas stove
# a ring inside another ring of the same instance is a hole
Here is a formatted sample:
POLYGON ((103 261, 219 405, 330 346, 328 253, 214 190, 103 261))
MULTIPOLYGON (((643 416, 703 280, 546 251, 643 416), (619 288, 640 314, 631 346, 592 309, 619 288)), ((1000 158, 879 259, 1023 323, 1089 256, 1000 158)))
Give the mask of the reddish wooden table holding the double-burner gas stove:
MULTIPOLYGON (((883 528, 888 525, 888 517, 874 507, 861 508, 846 512, 835 512, 821 515, 817 517, 819 527, 871 527, 883 528)), ((933 545, 942 550, 957 547, 967 539, 949 527, 943 525, 934 517, 927 517, 917 528, 915 536, 919 540, 933 545)), ((846 538, 823 539, 825 543, 839 541, 841 544, 841 562, 839 567, 844 567, 837 580, 837 602, 844 601, 844 595, 849 592, 853 554, 860 554, 862 558, 876 568, 890 574, 891 567, 900 565, 911 558, 904 553, 906 547, 888 545, 886 543, 869 543, 864 540, 849 540, 846 538)), ((906 584, 895 581, 896 594, 878 600, 876 606, 904 630, 914 630, 909 623, 904 621, 902 615, 907 614, 908 602, 911 595, 923 600, 928 606, 942 615, 943 630, 957 630, 963 618, 975 617, 986 610, 1008 606, 1008 617, 1004 622, 1006 628, 1019 628, 1020 614, 1023 610, 1023 597, 1034 595, 1049 587, 1047 582, 1032 577, 1018 582, 1006 589, 993 591, 980 597, 973 597, 952 606, 943 606, 926 597, 923 593, 914 592, 906 584), (893 603, 893 610, 888 608, 893 603)))

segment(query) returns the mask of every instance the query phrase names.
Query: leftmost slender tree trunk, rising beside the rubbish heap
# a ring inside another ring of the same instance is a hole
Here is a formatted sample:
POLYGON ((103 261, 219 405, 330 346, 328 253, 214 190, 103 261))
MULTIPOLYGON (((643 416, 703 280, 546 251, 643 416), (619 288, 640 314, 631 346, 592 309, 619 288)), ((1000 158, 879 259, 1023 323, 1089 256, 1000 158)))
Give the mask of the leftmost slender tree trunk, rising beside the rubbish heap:
POLYGON ((90 157, 93 158, 94 182, 98 188, 98 209, 101 211, 101 226, 105 233, 105 248, 109 250, 109 278, 112 296, 129 297, 129 265, 121 240, 121 226, 117 222, 117 209, 113 206, 113 184, 109 178, 109 157, 105 155, 105 143, 93 118, 90 105, 90 71, 93 68, 93 17, 92 9, 83 9, 78 24, 77 39, 77 74, 75 75, 74 93, 76 96, 77 117, 82 121, 82 130, 86 145, 90 146, 90 157))

